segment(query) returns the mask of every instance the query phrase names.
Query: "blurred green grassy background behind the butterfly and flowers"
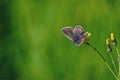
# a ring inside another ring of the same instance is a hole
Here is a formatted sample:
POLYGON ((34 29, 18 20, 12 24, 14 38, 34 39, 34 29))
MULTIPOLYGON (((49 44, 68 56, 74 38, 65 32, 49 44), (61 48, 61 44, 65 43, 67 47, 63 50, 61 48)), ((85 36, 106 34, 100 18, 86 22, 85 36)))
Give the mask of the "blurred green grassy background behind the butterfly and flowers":
POLYGON ((0 0, 0 80, 114 80, 93 49, 61 33, 76 25, 109 61, 105 39, 114 32, 120 41, 120 1, 0 0))

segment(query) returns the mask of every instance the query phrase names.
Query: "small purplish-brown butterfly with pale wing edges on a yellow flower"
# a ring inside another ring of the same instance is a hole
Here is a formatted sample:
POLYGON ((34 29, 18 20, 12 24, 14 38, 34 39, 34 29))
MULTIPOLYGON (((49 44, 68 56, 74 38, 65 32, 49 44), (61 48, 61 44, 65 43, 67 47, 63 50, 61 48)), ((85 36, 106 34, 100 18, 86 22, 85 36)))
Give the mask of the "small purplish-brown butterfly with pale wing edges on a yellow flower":
POLYGON ((80 25, 75 26, 74 29, 71 27, 64 27, 61 29, 61 32, 77 46, 85 43, 88 38, 88 32, 85 32, 84 28, 80 25))

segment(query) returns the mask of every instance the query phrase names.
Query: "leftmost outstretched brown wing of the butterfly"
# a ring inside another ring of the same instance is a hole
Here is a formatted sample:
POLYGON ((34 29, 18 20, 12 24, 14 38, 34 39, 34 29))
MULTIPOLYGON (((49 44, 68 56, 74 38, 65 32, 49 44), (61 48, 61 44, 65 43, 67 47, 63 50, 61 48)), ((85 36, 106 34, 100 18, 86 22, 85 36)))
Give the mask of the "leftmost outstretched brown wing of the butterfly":
POLYGON ((73 29, 71 27, 64 27, 61 29, 62 33, 71 41, 74 40, 73 29))

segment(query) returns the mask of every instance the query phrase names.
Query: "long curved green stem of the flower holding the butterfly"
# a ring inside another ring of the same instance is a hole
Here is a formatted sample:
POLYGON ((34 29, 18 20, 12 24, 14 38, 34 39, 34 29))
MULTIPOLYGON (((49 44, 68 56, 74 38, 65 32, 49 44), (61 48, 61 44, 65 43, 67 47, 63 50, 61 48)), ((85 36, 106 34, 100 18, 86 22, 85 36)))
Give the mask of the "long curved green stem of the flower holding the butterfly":
POLYGON ((116 74, 113 72, 113 70, 111 69, 111 67, 107 63, 106 59, 103 57, 103 55, 94 46, 92 46, 90 43, 86 43, 86 44, 89 45, 91 48, 94 49, 94 51, 96 51, 98 53, 98 55, 102 58, 102 60, 104 61, 105 65, 107 66, 107 68, 109 69, 109 71, 113 74, 113 76, 115 77, 115 79, 118 80, 116 74))

